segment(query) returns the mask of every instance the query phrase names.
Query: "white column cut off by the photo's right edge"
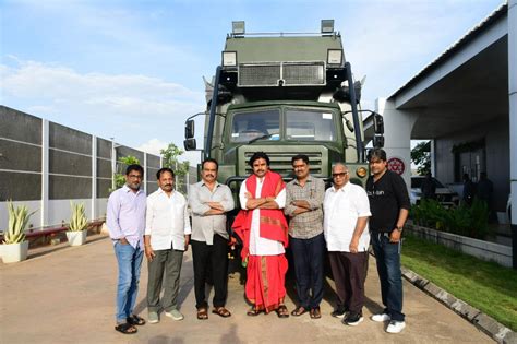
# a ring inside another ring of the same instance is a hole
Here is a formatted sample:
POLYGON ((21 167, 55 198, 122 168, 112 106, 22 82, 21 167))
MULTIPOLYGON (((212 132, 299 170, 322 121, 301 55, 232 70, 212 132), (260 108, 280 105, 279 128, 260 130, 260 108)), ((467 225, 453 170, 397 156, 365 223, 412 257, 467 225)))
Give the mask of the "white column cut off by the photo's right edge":
POLYGON ((517 0, 508 1, 509 179, 513 265, 517 269, 517 0))

